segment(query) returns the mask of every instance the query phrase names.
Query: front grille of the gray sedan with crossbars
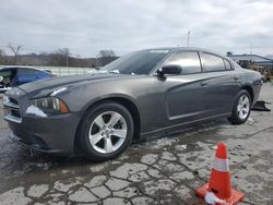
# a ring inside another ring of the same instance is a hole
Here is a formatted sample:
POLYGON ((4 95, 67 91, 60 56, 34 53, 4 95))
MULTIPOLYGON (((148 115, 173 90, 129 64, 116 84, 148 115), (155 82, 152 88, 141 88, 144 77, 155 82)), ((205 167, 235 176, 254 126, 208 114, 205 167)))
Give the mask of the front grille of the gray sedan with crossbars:
POLYGON ((13 121, 21 123, 22 122, 22 116, 20 106, 16 99, 11 97, 3 97, 3 112, 4 112, 4 119, 8 121, 13 121))

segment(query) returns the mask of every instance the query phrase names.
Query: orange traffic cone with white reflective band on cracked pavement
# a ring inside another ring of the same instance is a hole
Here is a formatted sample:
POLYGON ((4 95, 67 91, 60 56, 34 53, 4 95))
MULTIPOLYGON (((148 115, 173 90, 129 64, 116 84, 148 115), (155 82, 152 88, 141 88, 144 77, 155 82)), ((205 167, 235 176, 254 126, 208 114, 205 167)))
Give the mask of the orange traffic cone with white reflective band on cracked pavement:
POLYGON ((232 188, 227 149, 224 143, 219 143, 213 162, 210 183, 195 190, 195 194, 205 198, 209 204, 237 204, 244 200, 244 193, 232 188))

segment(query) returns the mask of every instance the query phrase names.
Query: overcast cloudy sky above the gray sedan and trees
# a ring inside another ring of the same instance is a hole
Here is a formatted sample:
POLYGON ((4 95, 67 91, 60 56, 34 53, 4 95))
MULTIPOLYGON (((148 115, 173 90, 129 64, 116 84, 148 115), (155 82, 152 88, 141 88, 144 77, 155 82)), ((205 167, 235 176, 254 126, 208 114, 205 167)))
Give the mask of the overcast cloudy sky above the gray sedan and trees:
POLYGON ((272 0, 0 0, 0 49, 81 57, 166 46, 273 55, 272 0))

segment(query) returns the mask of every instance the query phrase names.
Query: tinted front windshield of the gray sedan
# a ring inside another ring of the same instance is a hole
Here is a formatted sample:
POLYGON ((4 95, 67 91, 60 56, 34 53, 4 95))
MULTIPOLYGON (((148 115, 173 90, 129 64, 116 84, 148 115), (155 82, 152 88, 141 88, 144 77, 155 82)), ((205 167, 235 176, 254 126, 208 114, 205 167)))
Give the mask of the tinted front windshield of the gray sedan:
POLYGON ((112 61, 100 69, 99 72, 135 75, 150 74, 153 68, 157 65, 168 53, 169 50, 166 49, 132 52, 112 61))

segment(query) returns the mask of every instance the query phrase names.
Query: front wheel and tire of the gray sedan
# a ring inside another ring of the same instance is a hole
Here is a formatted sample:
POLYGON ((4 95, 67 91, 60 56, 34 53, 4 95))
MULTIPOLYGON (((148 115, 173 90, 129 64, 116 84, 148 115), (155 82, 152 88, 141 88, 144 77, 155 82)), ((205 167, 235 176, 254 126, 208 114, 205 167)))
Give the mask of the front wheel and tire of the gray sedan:
POLYGON ((91 108, 82 120, 78 138, 92 161, 117 158, 131 144, 133 119, 122 105, 105 101, 91 108))

